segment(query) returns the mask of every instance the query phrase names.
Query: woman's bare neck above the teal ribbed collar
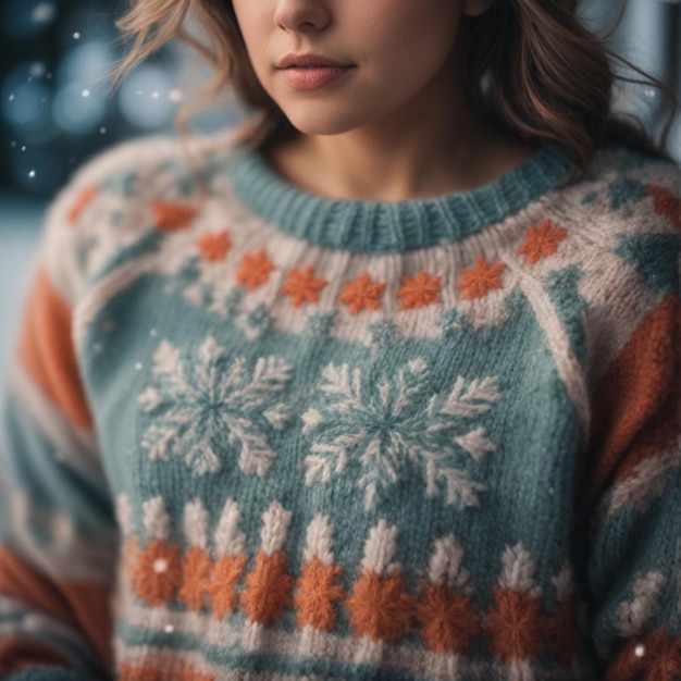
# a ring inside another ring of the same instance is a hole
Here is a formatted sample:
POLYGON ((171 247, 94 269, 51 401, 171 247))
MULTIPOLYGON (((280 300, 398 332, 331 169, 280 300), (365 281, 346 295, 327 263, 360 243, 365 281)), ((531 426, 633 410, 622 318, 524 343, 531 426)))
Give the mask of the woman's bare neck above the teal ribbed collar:
POLYGON ((455 88, 433 83, 430 104, 339 135, 298 135, 269 152, 274 170, 312 194, 399 201, 487 184, 535 151, 476 116, 455 88), (443 100, 439 92, 453 92, 443 100))

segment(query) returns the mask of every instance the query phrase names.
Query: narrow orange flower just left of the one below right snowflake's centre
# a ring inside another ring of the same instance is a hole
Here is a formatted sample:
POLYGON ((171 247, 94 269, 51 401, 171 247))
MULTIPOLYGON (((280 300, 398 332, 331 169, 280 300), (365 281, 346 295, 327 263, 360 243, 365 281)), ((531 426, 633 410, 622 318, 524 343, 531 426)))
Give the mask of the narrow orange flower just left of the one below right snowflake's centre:
POLYGON ((298 627, 314 627, 323 631, 334 628, 334 603, 345 598, 345 590, 335 583, 342 571, 337 566, 323 565, 317 556, 304 566, 295 599, 298 627))

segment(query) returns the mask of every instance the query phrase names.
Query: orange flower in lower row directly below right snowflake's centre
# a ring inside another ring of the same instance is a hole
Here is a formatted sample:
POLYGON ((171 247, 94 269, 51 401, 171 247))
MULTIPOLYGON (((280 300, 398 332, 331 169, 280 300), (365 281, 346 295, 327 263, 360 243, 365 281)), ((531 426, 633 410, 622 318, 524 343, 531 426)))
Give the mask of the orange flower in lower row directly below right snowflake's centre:
POLYGON ((413 598, 406 593, 401 577, 380 577, 371 571, 355 584, 345 607, 358 636, 374 641, 400 639, 411 626, 413 598))

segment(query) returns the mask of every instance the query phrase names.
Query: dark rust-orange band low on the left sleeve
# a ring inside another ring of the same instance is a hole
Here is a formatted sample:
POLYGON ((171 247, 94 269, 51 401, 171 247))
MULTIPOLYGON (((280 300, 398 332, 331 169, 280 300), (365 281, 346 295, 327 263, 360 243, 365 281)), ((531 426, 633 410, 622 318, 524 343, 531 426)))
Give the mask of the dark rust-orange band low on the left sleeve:
MULTIPOLYGON (((103 668, 111 667, 113 622, 108 585, 50 580, 9 548, 0 548, 0 594, 47 612, 79 631, 89 641, 103 668)), ((24 659, 27 648, 14 648, 8 641, 3 641, 2 646, 0 660, 3 665, 5 659, 24 659)), ((0 667, 0 671, 4 668, 0 667)))

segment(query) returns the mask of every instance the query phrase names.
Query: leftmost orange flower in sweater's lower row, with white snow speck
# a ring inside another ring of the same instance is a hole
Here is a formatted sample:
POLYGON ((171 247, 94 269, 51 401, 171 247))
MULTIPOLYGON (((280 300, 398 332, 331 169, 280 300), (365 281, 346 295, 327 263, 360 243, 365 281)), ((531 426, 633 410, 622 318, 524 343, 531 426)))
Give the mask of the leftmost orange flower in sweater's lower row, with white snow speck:
POLYGON ((168 603, 182 583, 182 564, 177 546, 168 542, 149 542, 137 554, 137 567, 131 574, 131 586, 139 597, 158 606, 168 603))

